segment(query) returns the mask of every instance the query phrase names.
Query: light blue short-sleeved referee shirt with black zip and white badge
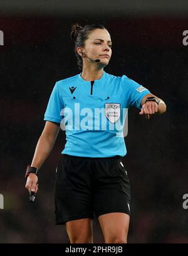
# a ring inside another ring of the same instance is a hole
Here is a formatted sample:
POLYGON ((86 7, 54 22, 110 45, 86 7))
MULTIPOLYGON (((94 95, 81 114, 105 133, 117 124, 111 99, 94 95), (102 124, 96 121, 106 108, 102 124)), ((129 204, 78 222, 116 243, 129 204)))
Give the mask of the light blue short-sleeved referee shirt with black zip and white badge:
POLYGON ((123 126, 127 109, 141 109, 150 91, 126 75, 103 71, 100 79, 85 81, 81 74, 56 82, 44 120, 60 123, 66 132, 61 152, 79 157, 125 156, 123 126))

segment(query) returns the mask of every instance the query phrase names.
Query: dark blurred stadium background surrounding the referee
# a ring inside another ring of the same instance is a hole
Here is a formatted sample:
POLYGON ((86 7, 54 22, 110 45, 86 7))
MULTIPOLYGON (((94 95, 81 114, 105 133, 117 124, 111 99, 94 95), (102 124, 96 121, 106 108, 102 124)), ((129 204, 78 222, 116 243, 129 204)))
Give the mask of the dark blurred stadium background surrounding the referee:
MULTIPOLYGON (((183 45, 182 33, 188 30, 188 3, 62 2, 0 4, 0 243, 69 242, 65 226, 55 226, 53 199, 63 131, 40 169, 34 204, 28 201, 24 173, 55 82, 80 73, 70 40, 75 22, 106 26, 113 54, 105 71, 127 75, 167 104, 165 114, 150 120, 139 116, 138 109, 129 110, 123 159, 132 192, 128 242, 187 243, 188 209, 182 208, 182 196, 188 192, 188 45, 183 45)), ((96 218, 93 233, 94 242, 103 243, 96 218)))

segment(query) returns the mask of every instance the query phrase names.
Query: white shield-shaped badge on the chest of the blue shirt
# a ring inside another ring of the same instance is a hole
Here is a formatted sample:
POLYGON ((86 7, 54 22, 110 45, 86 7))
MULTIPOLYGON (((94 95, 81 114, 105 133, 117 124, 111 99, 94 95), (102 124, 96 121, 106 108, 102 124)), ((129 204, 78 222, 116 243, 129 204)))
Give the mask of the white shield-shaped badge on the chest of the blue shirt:
POLYGON ((120 103, 105 103, 105 115, 111 123, 115 123, 121 114, 120 103))

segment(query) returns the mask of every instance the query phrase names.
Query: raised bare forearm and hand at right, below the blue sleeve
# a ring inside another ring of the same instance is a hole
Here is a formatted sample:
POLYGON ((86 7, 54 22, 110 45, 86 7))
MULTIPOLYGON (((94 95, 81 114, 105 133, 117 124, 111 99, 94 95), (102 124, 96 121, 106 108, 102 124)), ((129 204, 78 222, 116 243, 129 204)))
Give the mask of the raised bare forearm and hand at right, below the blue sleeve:
POLYGON ((167 109, 164 101, 159 97, 155 96, 154 94, 145 95, 141 101, 141 106, 142 106, 142 109, 140 111, 140 114, 145 114, 147 119, 149 119, 152 114, 165 113, 167 109), (147 99, 147 97, 155 97, 157 100, 159 100, 159 105, 157 105, 157 103, 155 103, 154 101, 147 101, 145 103, 145 100, 147 99))

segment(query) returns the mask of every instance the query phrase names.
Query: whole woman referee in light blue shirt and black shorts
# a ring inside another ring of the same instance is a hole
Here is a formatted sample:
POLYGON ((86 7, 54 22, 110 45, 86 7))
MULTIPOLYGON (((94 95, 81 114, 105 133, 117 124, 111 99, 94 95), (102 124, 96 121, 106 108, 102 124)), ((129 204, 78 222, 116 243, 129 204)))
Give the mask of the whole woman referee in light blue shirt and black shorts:
POLYGON ((112 55, 112 40, 102 25, 71 28, 81 73, 56 82, 44 114, 46 124, 26 175, 26 189, 38 191, 37 172, 48 157, 60 128, 66 145, 56 168, 56 225, 66 225, 71 243, 93 243, 93 214, 105 243, 127 243, 130 184, 122 157, 127 153, 123 109, 135 106, 150 118, 166 106, 148 89, 103 69, 112 55), (100 116, 97 115, 100 111, 100 116))

